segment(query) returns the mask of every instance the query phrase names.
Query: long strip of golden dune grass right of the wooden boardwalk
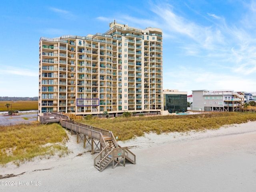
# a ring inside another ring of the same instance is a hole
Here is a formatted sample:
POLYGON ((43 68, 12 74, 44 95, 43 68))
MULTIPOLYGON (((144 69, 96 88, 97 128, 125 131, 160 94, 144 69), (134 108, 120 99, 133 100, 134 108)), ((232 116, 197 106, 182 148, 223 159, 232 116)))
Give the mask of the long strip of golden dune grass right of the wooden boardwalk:
POLYGON ((256 113, 223 112, 197 115, 138 116, 118 118, 92 118, 79 120, 84 124, 110 130, 118 140, 143 136, 144 132, 157 134, 217 129, 224 125, 256 121, 256 113))

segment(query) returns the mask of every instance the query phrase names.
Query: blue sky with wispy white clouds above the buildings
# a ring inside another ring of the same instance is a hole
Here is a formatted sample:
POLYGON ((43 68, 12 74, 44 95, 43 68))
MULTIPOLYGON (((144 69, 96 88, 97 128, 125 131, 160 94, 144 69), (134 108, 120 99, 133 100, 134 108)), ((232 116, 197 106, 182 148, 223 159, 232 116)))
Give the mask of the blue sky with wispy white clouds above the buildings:
POLYGON ((1 2, 0 96, 38 96, 40 37, 163 30, 163 88, 256 91, 256 1, 1 2), (129 3, 129 4, 126 4, 129 3))

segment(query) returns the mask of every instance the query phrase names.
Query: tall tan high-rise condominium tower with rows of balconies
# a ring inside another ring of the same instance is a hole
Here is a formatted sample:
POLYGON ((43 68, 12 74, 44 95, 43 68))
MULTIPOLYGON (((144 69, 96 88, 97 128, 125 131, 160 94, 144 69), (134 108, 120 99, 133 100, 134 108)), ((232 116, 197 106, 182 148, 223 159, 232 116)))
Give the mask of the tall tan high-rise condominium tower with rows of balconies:
POLYGON ((109 26, 95 35, 40 38, 39 114, 162 110, 162 30, 109 26))

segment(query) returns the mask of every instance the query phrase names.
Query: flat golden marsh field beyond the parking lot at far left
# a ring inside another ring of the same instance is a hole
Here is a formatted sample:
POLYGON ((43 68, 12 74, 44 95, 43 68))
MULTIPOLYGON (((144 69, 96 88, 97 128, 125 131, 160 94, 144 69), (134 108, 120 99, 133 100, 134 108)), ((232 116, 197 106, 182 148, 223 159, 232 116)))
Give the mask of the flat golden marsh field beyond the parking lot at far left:
MULTIPOLYGON (((12 104, 14 111, 38 110, 38 101, 0 101, 0 111, 7 111, 7 103, 12 104)), ((11 110, 11 106, 9 106, 11 110)))

